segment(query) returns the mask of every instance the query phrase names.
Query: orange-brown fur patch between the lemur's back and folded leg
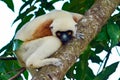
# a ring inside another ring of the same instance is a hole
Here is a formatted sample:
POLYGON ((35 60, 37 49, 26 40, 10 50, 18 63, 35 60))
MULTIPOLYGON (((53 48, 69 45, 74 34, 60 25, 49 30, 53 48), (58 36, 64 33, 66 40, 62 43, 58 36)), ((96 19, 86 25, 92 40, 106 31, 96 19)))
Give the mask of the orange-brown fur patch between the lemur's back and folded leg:
MULTIPOLYGON (((33 38, 41 38, 45 36, 51 36, 52 32, 50 30, 50 25, 52 24, 53 20, 49 19, 39 25, 39 27, 33 33, 33 38)), ((28 33, 29 34, 29 33, 28 33)))

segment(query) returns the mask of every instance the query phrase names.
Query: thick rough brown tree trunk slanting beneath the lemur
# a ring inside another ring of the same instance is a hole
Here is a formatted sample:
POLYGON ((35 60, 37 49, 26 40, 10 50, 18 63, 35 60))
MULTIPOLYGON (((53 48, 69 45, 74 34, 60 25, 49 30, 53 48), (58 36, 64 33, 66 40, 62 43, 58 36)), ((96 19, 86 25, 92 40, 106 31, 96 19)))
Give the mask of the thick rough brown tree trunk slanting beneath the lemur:
POLYGON ((84 39, 73 39, 67 45, 62 46, 52 57, 62 60, 59 67, 45 66, 38 71, 33 71, 32 80, 62 80, 68 69, 85 50, 90 41, 107 22, 120 0, 96 0, 95 4, 85 13, 83 19, 78 22, 78 32, 84 34, 84 39))

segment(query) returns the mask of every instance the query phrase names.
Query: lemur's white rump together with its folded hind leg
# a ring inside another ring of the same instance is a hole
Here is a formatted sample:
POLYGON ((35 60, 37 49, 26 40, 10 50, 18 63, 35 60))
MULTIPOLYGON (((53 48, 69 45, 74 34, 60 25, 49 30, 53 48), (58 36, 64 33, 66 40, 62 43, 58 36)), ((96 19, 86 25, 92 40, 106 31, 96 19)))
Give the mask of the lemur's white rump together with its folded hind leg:
POLYGON ((57 37, 47 36, 23 43, 16 53, 19 53, 18 56, 25 62, 26 67, 39 68, 52 63, 57 65, 59 59, 47 57, 51 56, 60 46, 61 42, 57 37))

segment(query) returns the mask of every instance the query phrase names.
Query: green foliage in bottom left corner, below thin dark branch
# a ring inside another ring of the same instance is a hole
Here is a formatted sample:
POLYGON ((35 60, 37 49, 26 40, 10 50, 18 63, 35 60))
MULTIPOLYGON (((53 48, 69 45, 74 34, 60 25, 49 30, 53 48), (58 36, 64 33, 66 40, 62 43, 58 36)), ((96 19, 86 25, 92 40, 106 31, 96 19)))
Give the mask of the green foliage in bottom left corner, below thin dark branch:
MULTIPOLYGON (((8 80, 17 74, 17 69, 20 68, 16 60, 0 60, 0 65, 0 80, 8 80)), ((17 80, 22 80, 22 77, 18 77, 17 80)))

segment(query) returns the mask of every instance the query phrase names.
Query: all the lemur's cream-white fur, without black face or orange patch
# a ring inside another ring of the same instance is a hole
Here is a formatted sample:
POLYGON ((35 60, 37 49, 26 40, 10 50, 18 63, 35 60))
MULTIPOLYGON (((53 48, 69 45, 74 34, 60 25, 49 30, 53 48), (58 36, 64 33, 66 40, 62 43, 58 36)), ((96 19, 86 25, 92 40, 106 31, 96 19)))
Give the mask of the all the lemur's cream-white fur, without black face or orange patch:
POLYGON ((58 30, 72 30, 74 32, 73 36, 75 36, 76 22, 73 17, 76 17, 78 20, 82 18, 81 15, 76 13, 55 10, 46 15, 39 16, 25 24, 15 36, 15 39, 25 41, 16 51, 20 64, 24 67, 31 68, 39 68, 49 64, 59 65, 60 59, 48 58, 61 46, 61 41, 56 37, 55 32, 58 30), (50 27, 53 26, 53 29, 51 29, 53 36, 33 39, 32 35, 35 30, 47 20, 53 20, 52 24, 49 25, 50 27))

